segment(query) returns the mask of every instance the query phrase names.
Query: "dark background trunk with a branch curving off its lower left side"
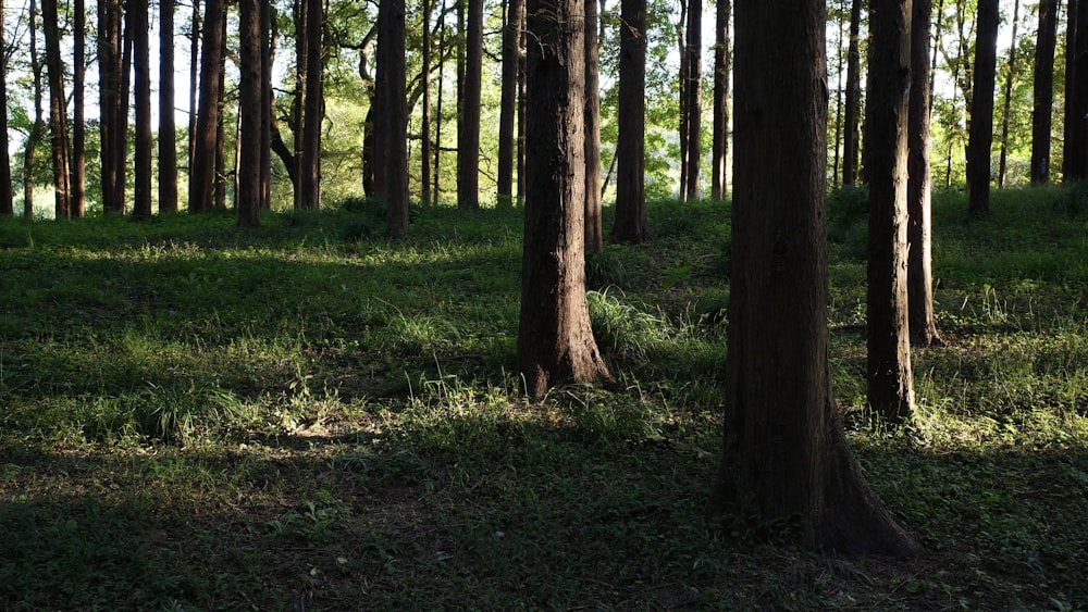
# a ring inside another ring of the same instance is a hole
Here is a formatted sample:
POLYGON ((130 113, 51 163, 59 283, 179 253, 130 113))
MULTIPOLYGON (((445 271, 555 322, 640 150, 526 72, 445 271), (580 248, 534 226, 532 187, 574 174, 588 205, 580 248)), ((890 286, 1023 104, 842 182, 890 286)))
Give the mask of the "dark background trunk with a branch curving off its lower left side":
POLYGON ((321 34, 324 12, 321 0, 306 4, 306 93, 302 102, 302 150, 299 174, 301 208, 321 208, 321 123, 324 118, 324 66, 321 59, 321 34))

